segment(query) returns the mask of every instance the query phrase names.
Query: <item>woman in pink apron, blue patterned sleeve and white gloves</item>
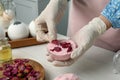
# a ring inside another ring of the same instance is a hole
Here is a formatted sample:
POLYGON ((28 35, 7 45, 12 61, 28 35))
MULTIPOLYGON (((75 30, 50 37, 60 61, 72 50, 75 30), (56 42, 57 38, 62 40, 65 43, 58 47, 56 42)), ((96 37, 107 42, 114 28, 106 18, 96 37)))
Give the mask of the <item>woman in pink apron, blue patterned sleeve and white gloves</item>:
MULTIPOLYGON (((65 11, 66 4, 67 0, 50 0, 47 7, 35 20, 38 41, 56 39, 55 27, 65 11), (45 33, 44 28, 48 33, 45 33)), ((48 60, 52 61, 55 66, 71 65, 94 42, 95 45, 111 51, 119 50, 120 30, 114 29, 120 27, 119 19, 120 0, 72 0, 68 36, 77 43, 78 48, 72 52, 69 61, 55 61, 50 55, 48 55, 48 60), (110 28, 111 26, 114 28, 110 28)))

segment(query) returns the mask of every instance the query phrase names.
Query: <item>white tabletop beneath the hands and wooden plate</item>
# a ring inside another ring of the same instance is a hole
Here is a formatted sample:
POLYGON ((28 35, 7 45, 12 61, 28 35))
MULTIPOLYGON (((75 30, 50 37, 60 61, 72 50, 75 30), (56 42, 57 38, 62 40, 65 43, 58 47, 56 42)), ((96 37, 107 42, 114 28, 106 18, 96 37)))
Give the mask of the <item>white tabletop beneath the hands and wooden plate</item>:
MULTIPOLYGON (((66 38, 58 35, 59 38, 66 38)), ((120 80, 113 73, 112 58, 114 52, 92 46, 83 57, 69 67, 55 67, 46 60, 46 44, 13 49, 13 58, 36 60, 45 68, 45 80, 53 80, 63 73, 76 73, 81 80, 120 80)))

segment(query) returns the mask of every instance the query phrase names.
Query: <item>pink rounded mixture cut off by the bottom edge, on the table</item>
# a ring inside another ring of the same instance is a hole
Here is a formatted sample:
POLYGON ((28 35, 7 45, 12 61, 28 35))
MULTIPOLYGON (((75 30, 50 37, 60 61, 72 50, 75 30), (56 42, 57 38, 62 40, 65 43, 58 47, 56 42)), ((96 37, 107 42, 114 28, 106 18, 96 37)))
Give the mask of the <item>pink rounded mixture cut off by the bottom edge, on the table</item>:
POLYGON ((57 76, 54 80, 80 80, 79 76, 73 73, 66 73, 57 76))

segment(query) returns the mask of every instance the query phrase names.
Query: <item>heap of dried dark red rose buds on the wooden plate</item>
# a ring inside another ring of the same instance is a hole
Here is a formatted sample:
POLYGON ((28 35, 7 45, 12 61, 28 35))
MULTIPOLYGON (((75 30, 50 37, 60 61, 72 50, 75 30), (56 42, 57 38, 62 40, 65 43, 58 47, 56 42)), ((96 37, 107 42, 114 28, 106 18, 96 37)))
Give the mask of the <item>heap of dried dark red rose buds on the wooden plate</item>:
POLYGON ((2 68, 5 77, 0 80, 38 80, 40 78, 40 72, 35 71, 28 64, 27 59, 16 59, 13 64, 5 64, 2 68))

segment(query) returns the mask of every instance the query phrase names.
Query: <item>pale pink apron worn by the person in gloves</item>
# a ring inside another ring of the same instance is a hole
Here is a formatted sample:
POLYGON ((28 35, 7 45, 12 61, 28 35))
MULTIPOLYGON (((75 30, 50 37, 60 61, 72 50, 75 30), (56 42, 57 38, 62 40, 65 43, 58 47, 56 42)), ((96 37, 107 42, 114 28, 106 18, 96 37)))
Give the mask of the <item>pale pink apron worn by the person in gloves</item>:
MULTIPOLYGON (((91 19, 100 15, 109 0, 71 0, 68 36, 72 36, 91 19)), ((117 51, 120 49, 120 29, 108 29, 96 41, 96 46, 117 51)))

